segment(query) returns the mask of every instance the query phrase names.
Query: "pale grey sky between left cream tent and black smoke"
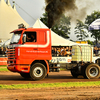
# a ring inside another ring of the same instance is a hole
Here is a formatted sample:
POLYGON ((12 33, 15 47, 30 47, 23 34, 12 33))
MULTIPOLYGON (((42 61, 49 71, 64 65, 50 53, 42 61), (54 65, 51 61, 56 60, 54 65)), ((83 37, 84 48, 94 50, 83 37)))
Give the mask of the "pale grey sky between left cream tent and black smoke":
POLYGON ((45 0, 9 0, 15 1, 16 10, 19 15, 32 26, 37 18, 45 12, 45 0))

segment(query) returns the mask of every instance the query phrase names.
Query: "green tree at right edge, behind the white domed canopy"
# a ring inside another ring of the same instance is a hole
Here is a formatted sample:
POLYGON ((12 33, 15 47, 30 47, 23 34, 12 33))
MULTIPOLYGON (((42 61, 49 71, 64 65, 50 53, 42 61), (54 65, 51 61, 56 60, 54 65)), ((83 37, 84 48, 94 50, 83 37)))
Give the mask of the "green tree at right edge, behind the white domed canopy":
MULTIPOLYGON (((87 29, 89 25, 98 18, 100 18, 100 11, 94 11, 93 13, 91 13, 91 15, 87 15, 85 19, 85 24, 87 25, 87 29)), ((91 30, 89 32, 91 33, 91 37, 96 39, 96 44, 97 44, 97 41, 100 39, 100 30, 91 30)))

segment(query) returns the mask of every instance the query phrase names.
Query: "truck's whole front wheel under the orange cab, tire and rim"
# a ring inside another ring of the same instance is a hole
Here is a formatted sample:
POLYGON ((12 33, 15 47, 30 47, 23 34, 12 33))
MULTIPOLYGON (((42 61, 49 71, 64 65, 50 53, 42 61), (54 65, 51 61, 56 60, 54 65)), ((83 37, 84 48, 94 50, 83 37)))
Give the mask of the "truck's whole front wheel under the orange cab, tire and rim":
POLYGON ((46 76, 46 67, 41 63, 35 63, 30 68, 30 76, 34 81, 44 79, 46 76))

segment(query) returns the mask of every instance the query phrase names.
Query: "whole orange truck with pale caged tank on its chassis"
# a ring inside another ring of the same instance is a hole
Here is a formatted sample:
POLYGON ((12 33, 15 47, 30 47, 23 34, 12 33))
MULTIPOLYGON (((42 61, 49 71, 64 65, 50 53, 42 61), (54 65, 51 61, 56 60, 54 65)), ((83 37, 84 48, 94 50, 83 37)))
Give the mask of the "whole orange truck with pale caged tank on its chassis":
POLYGON ((100 58, 93 57, 93 48, 88 45, 72 46, 72 57, 53 57, 50 29, 20 27, 11 33, 7 68, 24 78, 44 79, 50 71, 59 72, 64 64, 73 77, 100 77, 100 58))

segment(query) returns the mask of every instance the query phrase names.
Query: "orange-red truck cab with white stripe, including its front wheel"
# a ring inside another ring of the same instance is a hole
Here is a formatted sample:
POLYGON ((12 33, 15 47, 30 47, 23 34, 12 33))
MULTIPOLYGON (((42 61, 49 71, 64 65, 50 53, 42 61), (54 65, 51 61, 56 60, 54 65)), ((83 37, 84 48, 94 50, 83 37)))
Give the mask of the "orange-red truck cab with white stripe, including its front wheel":
POLYGON ((25 78, 43 79, 49 72, 48 60, 52 58, 50 30, 20 28, 11 33, 8 70, 18 72, 25 78))

